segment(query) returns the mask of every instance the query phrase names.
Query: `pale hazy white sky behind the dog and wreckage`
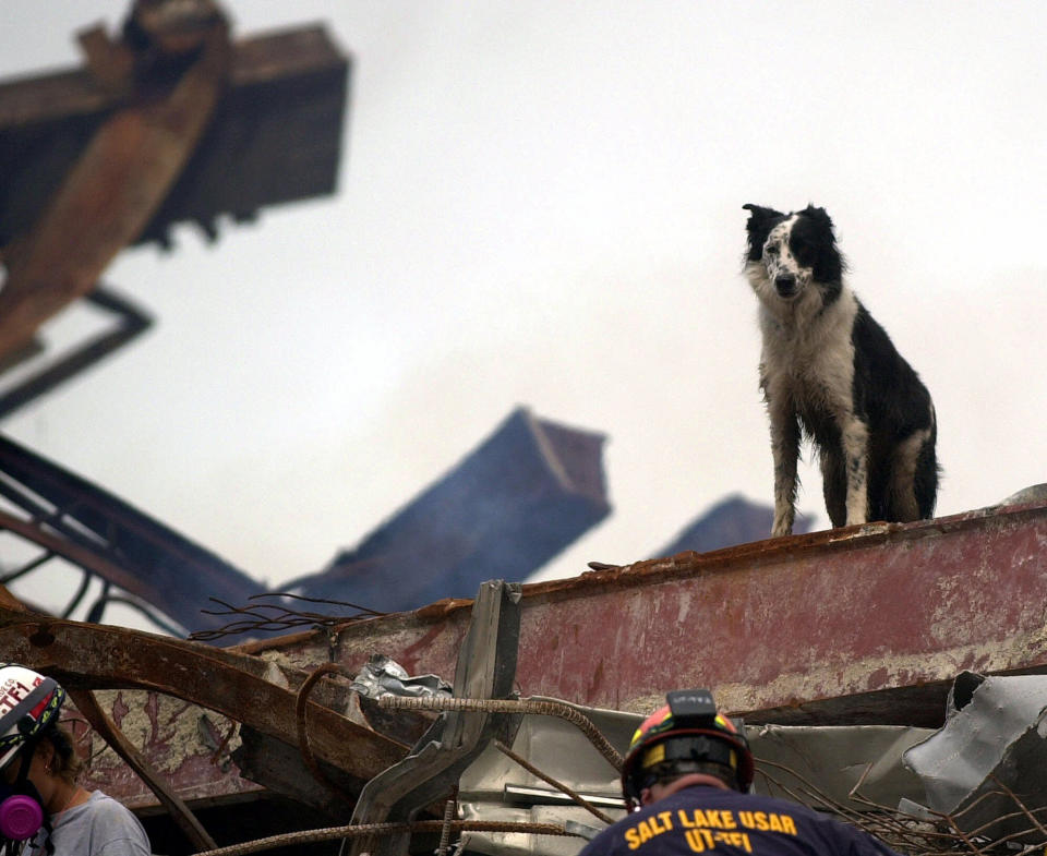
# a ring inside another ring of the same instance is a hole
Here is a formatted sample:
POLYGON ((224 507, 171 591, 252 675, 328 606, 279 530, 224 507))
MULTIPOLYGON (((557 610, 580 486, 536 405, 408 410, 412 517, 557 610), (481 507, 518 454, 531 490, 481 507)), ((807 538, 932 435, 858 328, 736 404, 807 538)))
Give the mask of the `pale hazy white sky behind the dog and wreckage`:
MULTIPOLYGON (((79 62, 127 8, 3 0, 0 75, 79 62)), ((742 205, 814 202, 935 399, 939 514, 1047 481, 1039 0, 229 10, 352 53, 340 191, 121 255, 105 279, 156 326, 15 439, 278 584, 522 403, 610 437, 614 513, 542 576, 646 558, 726 494, 770 502, 742 205)))

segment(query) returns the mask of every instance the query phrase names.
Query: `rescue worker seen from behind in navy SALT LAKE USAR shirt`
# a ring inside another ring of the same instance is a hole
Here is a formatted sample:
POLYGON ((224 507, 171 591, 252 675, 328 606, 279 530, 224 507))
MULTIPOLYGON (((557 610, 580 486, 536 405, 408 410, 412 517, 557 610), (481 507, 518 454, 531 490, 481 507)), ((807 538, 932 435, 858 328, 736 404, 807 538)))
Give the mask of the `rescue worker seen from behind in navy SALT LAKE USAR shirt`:
POLYGON ((753 753, 706 689, 677 690, 637 728, 622 768, 628 817, 580 856, 896 856, 797 803, 747 793, 753 753))

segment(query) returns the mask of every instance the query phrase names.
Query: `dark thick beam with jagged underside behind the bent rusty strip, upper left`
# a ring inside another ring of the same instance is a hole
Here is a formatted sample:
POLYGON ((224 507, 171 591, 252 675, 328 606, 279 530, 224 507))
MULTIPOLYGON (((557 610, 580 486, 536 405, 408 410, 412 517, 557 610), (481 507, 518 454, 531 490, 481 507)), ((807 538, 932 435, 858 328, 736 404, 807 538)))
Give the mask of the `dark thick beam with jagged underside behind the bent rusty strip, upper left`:
MULTIPOLYGON (((108 39, 92 49, 113 52, 108 39)), ((250 219, 264 206, 334 192, 348 58, 315 25, 245 38, 231 53, 228 85, 200 145, 135 243, 167 245, 174 224, 250 219)), ((117 92, 122 60, 119 52, 111 59, 111 72, 94 63, 0 82, 0 254, 5 244, 14 252, 94 133, 125 105, 117 92)))

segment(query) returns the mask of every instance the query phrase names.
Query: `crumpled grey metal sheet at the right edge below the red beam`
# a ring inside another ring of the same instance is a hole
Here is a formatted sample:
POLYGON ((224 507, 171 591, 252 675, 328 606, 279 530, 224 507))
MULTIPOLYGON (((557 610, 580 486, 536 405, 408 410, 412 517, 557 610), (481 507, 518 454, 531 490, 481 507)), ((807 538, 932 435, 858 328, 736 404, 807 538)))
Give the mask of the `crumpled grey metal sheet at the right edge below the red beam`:
POLYGON ((1031 829, 1014 797, 1031 811, 1047 807, 1047 675, 961 673, 944 726, 903 762, 923 782, 924 805, 965 832, 998 839, 1031 829))

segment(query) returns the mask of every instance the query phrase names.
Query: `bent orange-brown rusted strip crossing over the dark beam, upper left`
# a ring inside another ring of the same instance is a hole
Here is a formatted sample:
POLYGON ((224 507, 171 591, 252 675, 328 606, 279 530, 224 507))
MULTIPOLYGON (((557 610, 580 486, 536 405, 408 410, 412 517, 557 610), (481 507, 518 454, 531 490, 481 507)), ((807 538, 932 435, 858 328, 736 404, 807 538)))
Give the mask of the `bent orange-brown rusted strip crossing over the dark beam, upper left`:
POLYGON ((141 234, 196 147, 228 57, 219 23, 167 97, 117 110, 96 131, 39 222, 5 258, 0 355, 24 347, 45 321, 86 294, 141 234))

